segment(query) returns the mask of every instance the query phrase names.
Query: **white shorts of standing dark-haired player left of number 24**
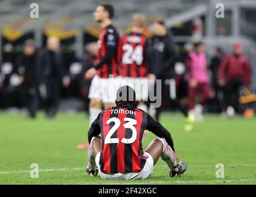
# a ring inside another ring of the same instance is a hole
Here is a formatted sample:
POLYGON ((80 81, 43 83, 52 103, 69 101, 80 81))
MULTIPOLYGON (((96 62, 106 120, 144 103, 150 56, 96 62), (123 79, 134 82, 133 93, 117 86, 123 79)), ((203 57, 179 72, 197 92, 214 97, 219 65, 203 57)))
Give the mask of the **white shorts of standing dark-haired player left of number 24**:
POLYGON ((95 98, 103 103, 114 103, 116 92, 121 86, 121 77, 100 78, 95 75, 89 90, 89 98, 95 98))

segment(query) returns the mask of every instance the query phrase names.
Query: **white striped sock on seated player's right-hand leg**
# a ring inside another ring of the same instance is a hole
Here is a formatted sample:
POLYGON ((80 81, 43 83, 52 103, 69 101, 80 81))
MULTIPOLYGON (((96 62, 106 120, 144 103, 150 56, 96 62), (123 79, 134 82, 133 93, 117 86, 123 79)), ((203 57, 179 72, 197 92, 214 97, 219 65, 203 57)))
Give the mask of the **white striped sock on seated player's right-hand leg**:
POLYGON ((163 161, 166 162, 171 171, 177 172, 179 170, 179 163, 177 161, 176 154, 174 153, 174 151, 171 149, 171 147, 168 145, 164 138, 158 138, 158 140, 160 140, 163 143, 163 152, 161 154, 161 158, 163 159, 163 161))

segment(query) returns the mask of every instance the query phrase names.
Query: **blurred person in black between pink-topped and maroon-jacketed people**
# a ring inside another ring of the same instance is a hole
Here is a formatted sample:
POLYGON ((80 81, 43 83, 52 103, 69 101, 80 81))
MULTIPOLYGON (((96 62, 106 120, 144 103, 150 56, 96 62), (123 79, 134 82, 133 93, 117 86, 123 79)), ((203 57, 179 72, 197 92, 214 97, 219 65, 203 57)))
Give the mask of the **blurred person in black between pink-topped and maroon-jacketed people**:
POLYGON ((220 47, 216 47, 214 55, 211 58, 210 62, 210 71, 211 71, 211 88, 212 88, 212 97, 213 105, 210 105, 213 112, 221 112, 223 110, 223 91, 218 84, 218 70, 223 58, 223 50, 220 47))

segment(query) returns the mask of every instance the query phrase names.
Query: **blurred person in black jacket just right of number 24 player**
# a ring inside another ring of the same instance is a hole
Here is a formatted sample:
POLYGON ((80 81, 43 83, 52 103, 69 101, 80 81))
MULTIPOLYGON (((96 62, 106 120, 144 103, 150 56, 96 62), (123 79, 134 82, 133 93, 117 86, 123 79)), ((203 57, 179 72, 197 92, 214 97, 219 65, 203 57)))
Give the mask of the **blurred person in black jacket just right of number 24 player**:
MULTIPOLYGON (((156 21, 151 26, 153 37, 151 38, 152 50, 150 55, 151 70, 156 76, 156 79, 162 81, 162 93, 168 92, 164 81, 169 79, 169 94, 171 95, 171 102, 174 106, 181 110, 184 116, 188 116, 187 109, 181 106, 181 103, 176 98, 175 79, 176 72, 174 70, 174 63, 178 57, 177 46, 173 41, 171 31, 166 28, 163 21, 156 21)), ((163 94, 162 94, 163 97, 163 94)), ((161 108, 156 108, 156 121, 159 121, 161 108)))

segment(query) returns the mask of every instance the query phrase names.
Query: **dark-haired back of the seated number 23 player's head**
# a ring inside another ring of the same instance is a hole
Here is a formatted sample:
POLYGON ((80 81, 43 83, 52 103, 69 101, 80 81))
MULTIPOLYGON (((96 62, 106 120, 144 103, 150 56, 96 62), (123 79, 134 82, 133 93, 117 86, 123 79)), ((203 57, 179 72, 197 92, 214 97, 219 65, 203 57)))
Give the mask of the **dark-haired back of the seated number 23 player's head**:
POLYGON ((121 103, 135 106, 136 95, 134 89, 130 86, 122 86, 116 92, 116 105, 121 103))

